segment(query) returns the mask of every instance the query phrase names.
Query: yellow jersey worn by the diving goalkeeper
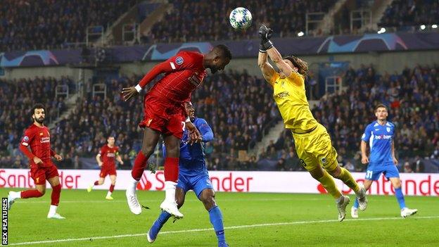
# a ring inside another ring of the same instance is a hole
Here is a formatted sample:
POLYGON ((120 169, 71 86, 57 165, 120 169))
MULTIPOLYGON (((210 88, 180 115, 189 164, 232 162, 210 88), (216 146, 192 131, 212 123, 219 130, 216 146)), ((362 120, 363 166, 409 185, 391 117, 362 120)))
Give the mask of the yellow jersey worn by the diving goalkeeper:
POLYGON ((314 119, 306 98, 303 75, 293 71, 289 77, 281 78, 275 72, 270 83, 274 89, 274 101, 287 129, 295 133, 306 133, 317 127, 317 120, 314 119))

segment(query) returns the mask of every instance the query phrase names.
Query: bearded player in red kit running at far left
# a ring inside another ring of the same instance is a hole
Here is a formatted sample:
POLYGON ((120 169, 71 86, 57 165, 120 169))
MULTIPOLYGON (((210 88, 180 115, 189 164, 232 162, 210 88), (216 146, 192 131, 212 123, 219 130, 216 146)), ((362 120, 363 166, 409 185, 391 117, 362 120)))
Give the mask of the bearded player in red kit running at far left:
POLYGON ((46 193, 46 180, 52 186, 51 206, 48 218, 65 219, 65 217, 56 213, 59 198, 61 194, 61 184, 58 175, 58 169, 53 164, 51 157, 61 161, 63 157, 56 154, 51 149, 49 128, 44 126, 44 106, 37 104, 32 108, 32 118, 34 123, 25 130, 25 136, 20 143, 22 151, 30 162, 30 175, 34 179, 35 189, 27 191, 9 191, 8 210, 17 198, 41 197, 46 193))

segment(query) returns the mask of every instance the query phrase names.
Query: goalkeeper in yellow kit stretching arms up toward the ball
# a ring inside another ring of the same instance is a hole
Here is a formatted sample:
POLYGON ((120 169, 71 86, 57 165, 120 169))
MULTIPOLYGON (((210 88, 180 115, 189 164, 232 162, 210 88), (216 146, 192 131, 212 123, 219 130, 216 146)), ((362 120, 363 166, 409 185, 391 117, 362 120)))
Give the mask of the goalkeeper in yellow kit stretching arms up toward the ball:
POLYGON ((269 41, 272 32, 265 25, 261 25, 259 30, 261 43, 257 64, 265 80, 274 89, 274 101, 284 118, 285 127, 291 129, 293 133, 300 162, 311 176, 317 179, 336 199, 338 220, 343 221, 350 198, 341 194, 333 177, 341 179, 355 191, 361 210, 367 207, 366 191, 363 186, 357 184, 348 170, 338 165, 337 151, 331 144, 328 132, 311 113, 305 94, 307 63, 295 56, 282 58, 279 51, 269 41), (276 72, 268 63, 267 54, 279 68, 279 72, 276 72))

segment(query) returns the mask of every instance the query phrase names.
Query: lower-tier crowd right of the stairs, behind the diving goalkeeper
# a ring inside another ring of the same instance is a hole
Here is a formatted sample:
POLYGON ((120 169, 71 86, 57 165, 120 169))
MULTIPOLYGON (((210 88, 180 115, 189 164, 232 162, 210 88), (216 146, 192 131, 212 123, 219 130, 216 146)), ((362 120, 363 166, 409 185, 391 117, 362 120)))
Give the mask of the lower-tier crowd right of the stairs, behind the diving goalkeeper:
MULTIPOLYGON (((376 120, 374 107, 384 103, 396 126, 395 147, 400 164, 421 171, 419 159, 438 157, 439 150, 439 67, 416 66, 402 73, 376 75, 373 66, 343 76, 345 90, 326 95, 312 109, 314 117, 328 129, 338 151, 338 161, 350 170, 362 171, 360 140, 366 126, 376 120), (413 159, 409 158, 415 158, 413 159), (412 162, 410 161, 412 160, 412 162)), ((289 158, 294 146, 291 133, 284 131, 279 140, 262 153, 278 160, 289 158)), ((294 160, 295 161, 295 160, 294 160)), ((291 169, 296 163, 285 163, 291 169)))

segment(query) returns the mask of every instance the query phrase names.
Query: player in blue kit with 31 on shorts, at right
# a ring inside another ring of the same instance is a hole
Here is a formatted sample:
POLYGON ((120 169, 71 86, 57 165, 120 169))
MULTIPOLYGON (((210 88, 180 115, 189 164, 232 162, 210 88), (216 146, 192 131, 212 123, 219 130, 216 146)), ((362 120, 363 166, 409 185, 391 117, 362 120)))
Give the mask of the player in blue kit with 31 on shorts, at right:
MULTIPOLYGON (((387 107, 379 104, 375 108, 376 121, 367 125, 364 134, 362 135, 361 151, 362 163, 367 166, 366 178, 364 180, 364 188, 370 188, 372 182, 379 179, 381 173, 386 178, 390 179, 393 188, 395 188, 395 196, 397 202, 400 204, 401 217, 414 215, 418 212, 417 209, 409 209, 405 206, 404 195, 401 189, 400 173, 395 165, 397 159, 395 157, 395 144, 393 136, 395 135, 395 125, 387 121, 388 111, 387 107), (369 142, 370 156, 367 157, 366 149, 369 142)), ((352 218, 358 217, 358 201, 355 200, 354 205, 350 210, 352 218)))

